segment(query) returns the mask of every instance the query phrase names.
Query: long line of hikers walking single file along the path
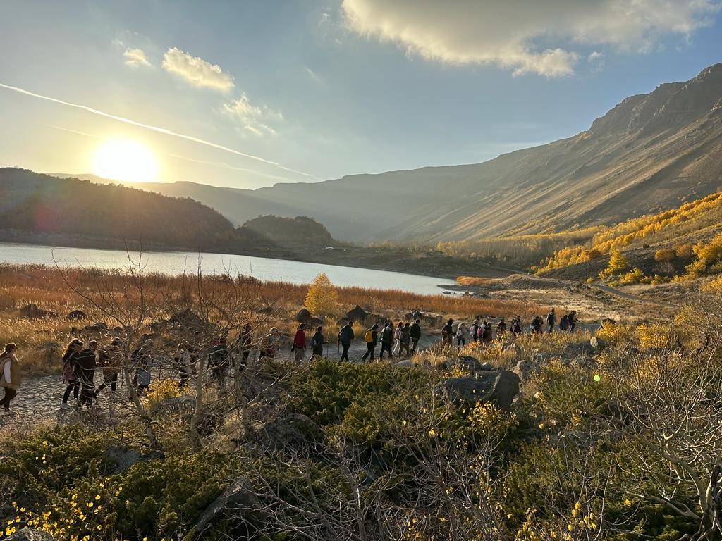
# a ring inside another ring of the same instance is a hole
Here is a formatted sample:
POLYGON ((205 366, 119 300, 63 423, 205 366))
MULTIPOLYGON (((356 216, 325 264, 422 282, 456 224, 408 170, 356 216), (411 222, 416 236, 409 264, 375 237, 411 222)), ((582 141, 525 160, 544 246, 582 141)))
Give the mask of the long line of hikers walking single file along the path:
MULTIPOLYGON (((559 322, 561 332, 573 333, 578 323, 577 312, 572 310, 563 315, 559 322)), ((422 336, 421 321, 414 322, 399 321, 394 325, 387 321, 383 327, 378 323, 373 324, 365 330, 363 340, 366 351, 361 361, 373 361, 376 348, 380 343, 379 359, 401 359, 414 355, 419 346, 422 336), (385 357, 384 354, 388 354, 385 357)), ((546 318, 535 315, 531 320, 530 331, 534 334, 544 333, 546 324, 547 333, 553 333, 557 327, 557 315, 554 309, 546 318)), ((311 359, 328 357, 328 351, 324 354, 324 346, 328 346, 323 334, 323 327, 315 328, 315 333, 307 341, 307 325, 301 323, 292 339, 291 350, 296 361, 305 360, 306 351, 310 348, 311 359)), ((441 340, 445 345, 453 345, 456 348, 464 348, 467 340, 469 343, 481 343, 489 345, 497 337, 516 336, 523 333, 521 317, 515 316, 509 325, 501 318, 496 325, 489 321, 474 320, 471 325, 466 322, 454 322, 447 320, 441 329, 441 340)), ((178 387, 188 387, 191 379, 197 381, 197 366, 201 355, 207 360, 207 368, 210 371, 211 379, 219 386, 225 384, 225 377, 231 367, 237 371, 245 369, 252 349, 258 350, 258 359, 273 359, 276 356, 279 346, 282 343, 282 333, 278 327, 271 327, 269 333, 254 342, 253 328, 246 323, 238 333, 238 337, 230 343, 223 335, 214 338, 211 343, 204 346, 201 333, 193 333, 193 339, 188 343, 178 344, 172 355, 172 366, 175 376, 178 377, 178 387)), ((349 361, 349 349, 356 335, 354 322, 346 322, 337 336, 340 361, 349 361)), ((17 346, 9 343, 4 351, 0 353, 0 387, 4 387, 4 397, 0 400, 6 413, 10 411, 10 402, 17 396, 17 389, 22 378, 22 370, 17 359, 17 346)), ((118 387, 118 377, 122 373, 126 355, 126 343, 123 338, 113 338, 107 346, 100 346, 97 340, 90 340, 87 344, 78 338, 71 340, 63 355, 63 380, 65 391, 63 394, 61 409, 68 408, 68 401, 71 395, 76 401, 76 407, 90 408, 96 401, 98 395, 106 388, 110 388, 110 396, 115 397, 118 387), (95 386, 95 372, 100 369, 103 375, 103 383, 95 386)), ((148 392, 151 385, 151 369, 159 366, 157 360, 161 357, 168 359, 168 355, 162 354, 154 346, 152 338, 146 338, 142 345, 135 348, 129 354, 129 373, 132 373, 131 384, 138 395, 148 392), (159 356, 160 355, 160 356, 159 356)), ((170 360, 170 359, 169 359, 170 360)))

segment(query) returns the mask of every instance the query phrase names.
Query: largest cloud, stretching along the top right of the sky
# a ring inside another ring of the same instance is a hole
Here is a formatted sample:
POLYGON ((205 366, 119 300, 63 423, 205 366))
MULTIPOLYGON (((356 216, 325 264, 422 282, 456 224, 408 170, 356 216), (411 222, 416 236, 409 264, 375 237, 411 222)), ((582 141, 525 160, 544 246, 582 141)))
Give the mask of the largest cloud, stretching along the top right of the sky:
POLYGON ((409 54, 495 64, 515 75, 573 74, 579 46, 648 52, 710 25, 718 0, 343 0, 347 25, 409 54))

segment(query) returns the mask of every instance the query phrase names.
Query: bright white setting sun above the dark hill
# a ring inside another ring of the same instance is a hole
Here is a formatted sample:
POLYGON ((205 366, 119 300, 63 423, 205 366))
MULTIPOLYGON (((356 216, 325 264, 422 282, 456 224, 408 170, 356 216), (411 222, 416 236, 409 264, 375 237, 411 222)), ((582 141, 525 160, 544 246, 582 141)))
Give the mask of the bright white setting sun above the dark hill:
POLYGON ((130 139, 111 139, 95 151, 92 172, 112 180, 155 182, 158 165, 147 146, 130 139))

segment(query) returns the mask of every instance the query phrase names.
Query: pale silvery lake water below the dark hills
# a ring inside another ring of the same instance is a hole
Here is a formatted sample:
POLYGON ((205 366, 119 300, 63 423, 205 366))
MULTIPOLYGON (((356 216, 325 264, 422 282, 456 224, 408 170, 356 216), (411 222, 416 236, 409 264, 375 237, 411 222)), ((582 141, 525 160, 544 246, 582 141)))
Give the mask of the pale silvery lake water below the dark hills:
MULTIPOLYGON (((139 253, 130 252, 137 264, 139 253)), ((54 265, 53 257, 61 266, 97 268, 128 268, 128 255, 121 250, 89 250, 42 245, 21 245, 0 242, 0 262, 36 263, 54 265)), ((415 274, 373 271, 366 268, 320 265, 269 258, 252 258, 248 255, 209 254, 193 252, 144 252, 145 272, 181 274, 193 273, 199 258, 204 273, 243 274, 264 281, 310 283, 318 273, 326 273, 336 286, 360 286, 375 289, 401 289, 419 294, 439 294, 440 284, 452 284, 447 278, 417 276, 415 274)))

